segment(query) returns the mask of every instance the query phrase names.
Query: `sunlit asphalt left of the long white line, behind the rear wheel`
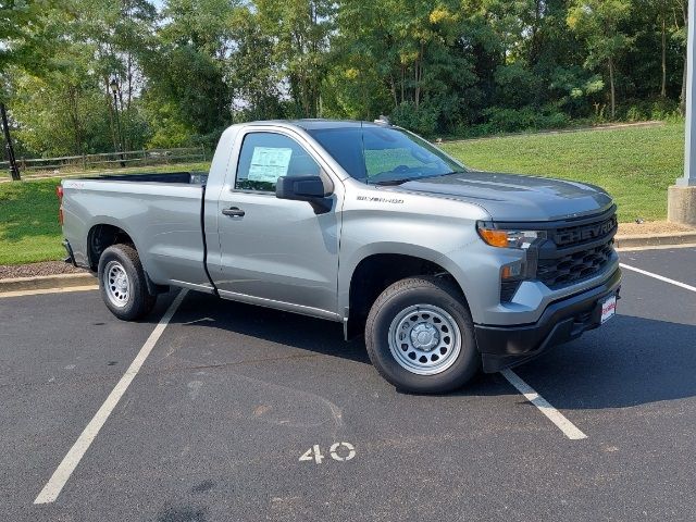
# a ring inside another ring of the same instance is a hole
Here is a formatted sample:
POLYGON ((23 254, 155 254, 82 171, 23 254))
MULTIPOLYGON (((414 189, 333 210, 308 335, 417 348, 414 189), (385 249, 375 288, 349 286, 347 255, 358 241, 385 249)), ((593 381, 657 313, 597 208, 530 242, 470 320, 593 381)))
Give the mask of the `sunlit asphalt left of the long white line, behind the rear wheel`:
POLYGON ((0 519, 22 520, 152 324, 113 321, 96 291, 0 299, 0 519))

